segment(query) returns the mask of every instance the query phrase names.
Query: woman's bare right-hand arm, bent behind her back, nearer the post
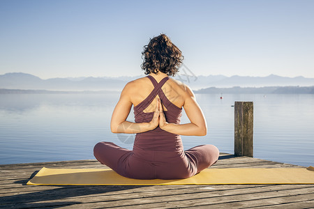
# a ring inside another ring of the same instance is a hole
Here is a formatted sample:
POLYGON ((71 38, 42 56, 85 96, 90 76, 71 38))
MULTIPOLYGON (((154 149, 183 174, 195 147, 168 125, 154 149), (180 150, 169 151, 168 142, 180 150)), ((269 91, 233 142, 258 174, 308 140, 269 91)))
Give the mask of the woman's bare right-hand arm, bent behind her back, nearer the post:
POLYGON ((187 88, 187 95, 184 102, 184 110, 190 119, 190 123, 175 124, 167 123, 165 114, 159 102, 159 127, 172 134, 186 135, 186 136, 204 136, 207 134, 207 123, 200 106, 195 100, 195 95, 187 88))

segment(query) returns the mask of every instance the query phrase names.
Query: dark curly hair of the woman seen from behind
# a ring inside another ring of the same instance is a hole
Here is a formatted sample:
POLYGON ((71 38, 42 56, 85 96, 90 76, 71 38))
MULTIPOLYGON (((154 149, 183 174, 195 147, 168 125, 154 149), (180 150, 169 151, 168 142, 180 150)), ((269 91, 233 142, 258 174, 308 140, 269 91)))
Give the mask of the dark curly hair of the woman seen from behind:
POLYGON ((144 61, 141 68, 146 75, 151 72, 156 74, 160 71, 168 76, 174 76, 179 71, 184 56, 170 38, 165 34, 160 34, 160 36, 149 39, 149 44, 144 46, 142 59, 144 61))

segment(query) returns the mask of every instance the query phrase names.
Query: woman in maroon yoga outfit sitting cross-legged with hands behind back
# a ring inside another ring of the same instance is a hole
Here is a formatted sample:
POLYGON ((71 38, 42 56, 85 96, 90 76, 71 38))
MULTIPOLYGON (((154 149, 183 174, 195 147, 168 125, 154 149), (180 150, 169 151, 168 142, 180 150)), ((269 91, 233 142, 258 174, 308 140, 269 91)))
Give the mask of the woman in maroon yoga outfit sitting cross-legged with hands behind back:
POLYGON ((204 136, 207 123, 193 92, 171 79, 182 63, 181 51, 160 34, 144 46, 142 69, 147 77, 129 82, 114 108, 111 130, 136 133, 133 150, 112 142, 94 148, 96 159, 121 176, 137 179, 189 178, 218 160, 219 150, 202 145, 184 151, 179 135, 204 136), (134 106, 135 123, 126 121, 134 106), (182 107, 190 123, 179 124, 182 107))

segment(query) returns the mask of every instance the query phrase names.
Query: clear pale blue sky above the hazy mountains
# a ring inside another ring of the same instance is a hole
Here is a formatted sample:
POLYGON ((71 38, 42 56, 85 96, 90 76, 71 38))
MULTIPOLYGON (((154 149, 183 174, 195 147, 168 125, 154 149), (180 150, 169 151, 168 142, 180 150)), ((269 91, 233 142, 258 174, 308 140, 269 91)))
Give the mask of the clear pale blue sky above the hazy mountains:
POLYGON ((165 33, 195 75, 314 77, 314 1, 0 0, 0 75, 142 75, 165 33))

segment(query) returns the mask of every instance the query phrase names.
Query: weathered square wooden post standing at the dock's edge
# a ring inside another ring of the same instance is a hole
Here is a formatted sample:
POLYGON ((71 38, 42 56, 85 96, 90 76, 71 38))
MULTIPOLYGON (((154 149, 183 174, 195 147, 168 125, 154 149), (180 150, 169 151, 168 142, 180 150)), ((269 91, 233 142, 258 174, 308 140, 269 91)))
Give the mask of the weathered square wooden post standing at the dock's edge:
POLYGON ((234 155, 253 157, 253 102, 234 102, 234 155))

